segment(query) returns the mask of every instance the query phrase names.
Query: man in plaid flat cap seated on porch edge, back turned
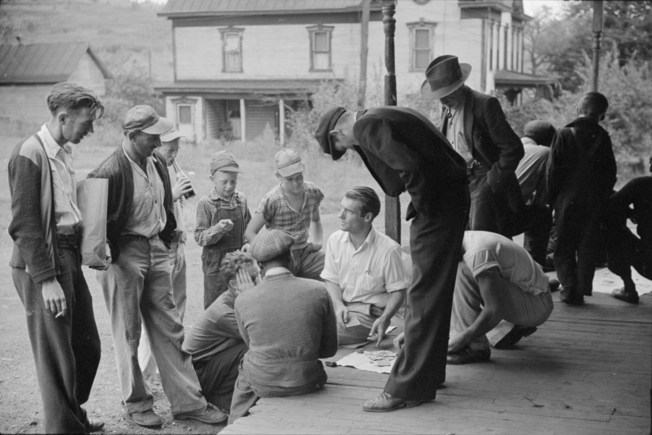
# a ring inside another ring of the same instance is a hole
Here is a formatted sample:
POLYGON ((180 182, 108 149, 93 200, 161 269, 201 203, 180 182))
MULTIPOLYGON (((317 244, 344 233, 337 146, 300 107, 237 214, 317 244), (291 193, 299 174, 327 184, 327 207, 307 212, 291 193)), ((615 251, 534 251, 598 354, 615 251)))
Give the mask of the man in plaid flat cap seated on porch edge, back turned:
POLYGON ((337 323, 323 283, 289 271, 294 238, 267 230, 250 245, 263 280, 235 299, 244 354, 235 382, 229 423, 244 417, 259 397, 314 393, 327 376, 319 358, 337 352, 337 323))

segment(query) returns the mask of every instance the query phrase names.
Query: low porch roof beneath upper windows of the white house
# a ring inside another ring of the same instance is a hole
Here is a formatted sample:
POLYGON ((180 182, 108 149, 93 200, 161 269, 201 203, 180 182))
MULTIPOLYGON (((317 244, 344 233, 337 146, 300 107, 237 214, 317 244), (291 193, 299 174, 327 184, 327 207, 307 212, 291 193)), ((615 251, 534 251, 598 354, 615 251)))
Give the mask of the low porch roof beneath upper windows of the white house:
POLYGON ((192 82, 175 82, 156 86, 161 92, 205 92, 205 93, 304 93, 310 91, 321 80, 197 80, 192 82))

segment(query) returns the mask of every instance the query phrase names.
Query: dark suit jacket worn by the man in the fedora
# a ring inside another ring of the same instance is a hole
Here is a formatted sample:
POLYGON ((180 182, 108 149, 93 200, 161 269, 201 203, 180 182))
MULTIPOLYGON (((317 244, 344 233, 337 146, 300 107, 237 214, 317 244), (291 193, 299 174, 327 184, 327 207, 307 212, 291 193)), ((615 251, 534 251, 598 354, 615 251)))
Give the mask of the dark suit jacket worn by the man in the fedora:
MULTIPOLYGON (((465 88, 464 140, 473 158, 488 170, 487 183, 494 193, 505 194, 510 208, 520 210, 524 201, 515 171, 524 155, 523 143, 507 122, 498 98, 465 88)), ((441 113, 441 121, 445 136, 445 113, 441 113)))

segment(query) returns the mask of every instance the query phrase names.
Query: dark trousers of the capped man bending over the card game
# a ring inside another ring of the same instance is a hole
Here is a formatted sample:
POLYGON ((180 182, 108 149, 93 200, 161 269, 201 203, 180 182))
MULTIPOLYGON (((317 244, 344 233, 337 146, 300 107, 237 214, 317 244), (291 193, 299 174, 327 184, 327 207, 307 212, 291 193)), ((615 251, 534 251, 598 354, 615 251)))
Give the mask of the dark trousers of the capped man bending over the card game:
POLYGON ((452 295, 467 213, 454 209, 412 220, 405 344, 385 385, 393 396, 433 400, 437 385, 446 380, 452 295))

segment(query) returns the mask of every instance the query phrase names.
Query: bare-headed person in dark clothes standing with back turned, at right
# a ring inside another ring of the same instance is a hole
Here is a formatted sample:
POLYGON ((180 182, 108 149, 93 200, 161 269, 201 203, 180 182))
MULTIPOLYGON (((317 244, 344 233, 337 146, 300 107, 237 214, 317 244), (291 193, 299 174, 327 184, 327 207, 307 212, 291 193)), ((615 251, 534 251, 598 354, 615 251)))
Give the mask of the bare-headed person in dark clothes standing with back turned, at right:
POLYGON ((559 299, 568 305, 582 305, 592 293, 600 219, 615 185, 612 142, 599 125, 608 106, 598 92, 584 95, 579 117, 557 131, 550 150, 548 194, 557 225, 554 263, 563 286, 559 299))

